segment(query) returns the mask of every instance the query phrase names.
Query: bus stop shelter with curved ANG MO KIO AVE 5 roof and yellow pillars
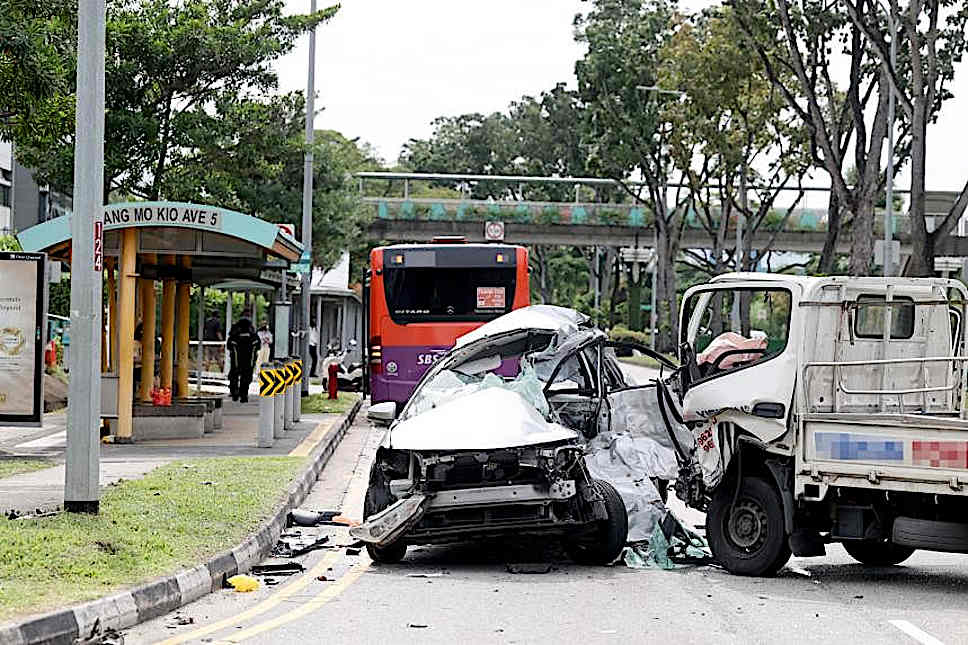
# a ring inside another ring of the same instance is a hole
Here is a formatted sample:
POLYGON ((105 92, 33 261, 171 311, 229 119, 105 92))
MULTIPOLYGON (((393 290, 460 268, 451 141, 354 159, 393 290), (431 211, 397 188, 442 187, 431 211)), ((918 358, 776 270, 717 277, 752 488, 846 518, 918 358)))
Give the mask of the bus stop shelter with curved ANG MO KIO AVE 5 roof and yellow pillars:
MULTIPOLYGON (((92 235, 94 235, 92 231, 92 235)), ((70 216, 18 236, 24 251, 71 262, 70 216)), ((102 270, 108 313, 102 322, 102 414, 116 417, 117 441, 133 437, 132 411, 151 403, 156 363, 160 388, 190 396, 191 285, 248 284, 278 288, 302 245, 271 222, 236 211, 184 202, 125 202, 104 208, 102 270), (161 283, 160 320, 156 284, 161 283), (135 328, 141 322, 140 383, 135 391, 135 328), (155 343, 161 337, 156 356, 155 343), (116 410, 105 395, 116 391, 116 410)), ((97 257, 97 254, 95 254, 97 257)), ((199 311, 199 323, 203 313, 199 311)), ((227 332, 228 330, 226 330, 227 332)), ((80 351, 79 348, 75 351, 80 351)), ((157 416, 157 415, 153 415, 157 416)))

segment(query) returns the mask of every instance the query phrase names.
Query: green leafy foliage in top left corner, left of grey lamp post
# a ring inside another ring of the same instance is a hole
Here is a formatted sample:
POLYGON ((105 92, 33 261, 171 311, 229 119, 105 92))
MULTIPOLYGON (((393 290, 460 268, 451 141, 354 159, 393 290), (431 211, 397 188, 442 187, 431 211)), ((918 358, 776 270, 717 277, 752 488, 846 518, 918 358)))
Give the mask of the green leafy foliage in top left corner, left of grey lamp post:
POLYGON ((0 3, 0 138, 42 134, 72 113, 76 2, 0 3))

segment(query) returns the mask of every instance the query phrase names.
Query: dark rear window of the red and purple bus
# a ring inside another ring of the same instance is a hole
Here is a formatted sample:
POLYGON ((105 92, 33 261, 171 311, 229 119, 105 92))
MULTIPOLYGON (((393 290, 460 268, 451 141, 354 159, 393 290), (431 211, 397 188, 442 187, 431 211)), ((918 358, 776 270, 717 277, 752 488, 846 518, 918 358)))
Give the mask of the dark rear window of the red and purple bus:
POLYGON ((515 267, 387 268, 390 318, 412 322, 487 321, 511 310, 515 267))

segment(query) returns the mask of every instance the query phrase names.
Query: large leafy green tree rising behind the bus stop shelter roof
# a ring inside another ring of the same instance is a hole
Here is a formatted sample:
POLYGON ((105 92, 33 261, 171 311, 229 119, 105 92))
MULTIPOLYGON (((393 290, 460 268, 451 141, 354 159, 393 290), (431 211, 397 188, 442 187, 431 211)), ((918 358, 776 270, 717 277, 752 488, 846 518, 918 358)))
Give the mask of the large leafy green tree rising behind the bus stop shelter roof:
MULTIPOLYGON (((109 2, 105 201, 112 191, 167 197, 172 161, 191 146, 205 116, 275 90, 272 62, 337 7, 296 16, 283 15, 283 9, 283 0, 109 2)), ((56 127, 26 128, 14 140, 38 181, 70 193, 73 108, 58 116, 56 127)))

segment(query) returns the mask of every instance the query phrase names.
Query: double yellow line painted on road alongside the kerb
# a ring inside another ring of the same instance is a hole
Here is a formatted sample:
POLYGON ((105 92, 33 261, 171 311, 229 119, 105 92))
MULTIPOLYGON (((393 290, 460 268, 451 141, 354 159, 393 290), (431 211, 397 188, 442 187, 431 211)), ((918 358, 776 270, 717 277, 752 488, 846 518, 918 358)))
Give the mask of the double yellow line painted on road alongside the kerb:
MULTIPOLYGON (((254 607, 243 611, 242 613, 235 614, 230 618, 220 620, 214 623, 205 625, 204 627, 199 627, 198 629, 187 632, 185 634, 179 634, 173 636, 167 640, 163 640, 157 645, 180 645, 181 643, 187 643, 188 641, 196 640, 207 636, 208 634, 213 634, 223 629, 228 629, 230 627, 235 627, 244 621, 251 618, 255 618, 265 612, 278 607, 280 604, 285 602, 291 596, 299 593, 306 588, 312 581, 316 579, 317 576, 323 575, 336 561, 339 559, 339 553, 327 553, 323 556, 323 559, 319 561, 315 567, 304 573, 300 578, 293 580, 291 583, 280 589, 278 592, 274 593, 269 598, 266 598, 254 607)), ((257 623, 248 629, 243 629, 236 631, 231 636, 221 639, 218 642, 222 643, 238 643, 246 640, 247 638, 252 638, 257 634, 267 632, 270 629, 275 629, 286 623, 290 623, 294 620, 302 618, 306 614, 309 614, 316 609, 319 609, 327 602, 343 593, 343 591, 353 584, 357 578, 359 578, 363 573, 369 568, 370 561, 367 559, 365 562, 360 562, 353 565, 349 571, 347 571, 341 578, 334 581, 332 584, 328 584, 326 588, 320 593, 316 594, 305 603, 299 605, 298 607, 287 611, 283 614, 271 618, 267 621, 257 623)))

